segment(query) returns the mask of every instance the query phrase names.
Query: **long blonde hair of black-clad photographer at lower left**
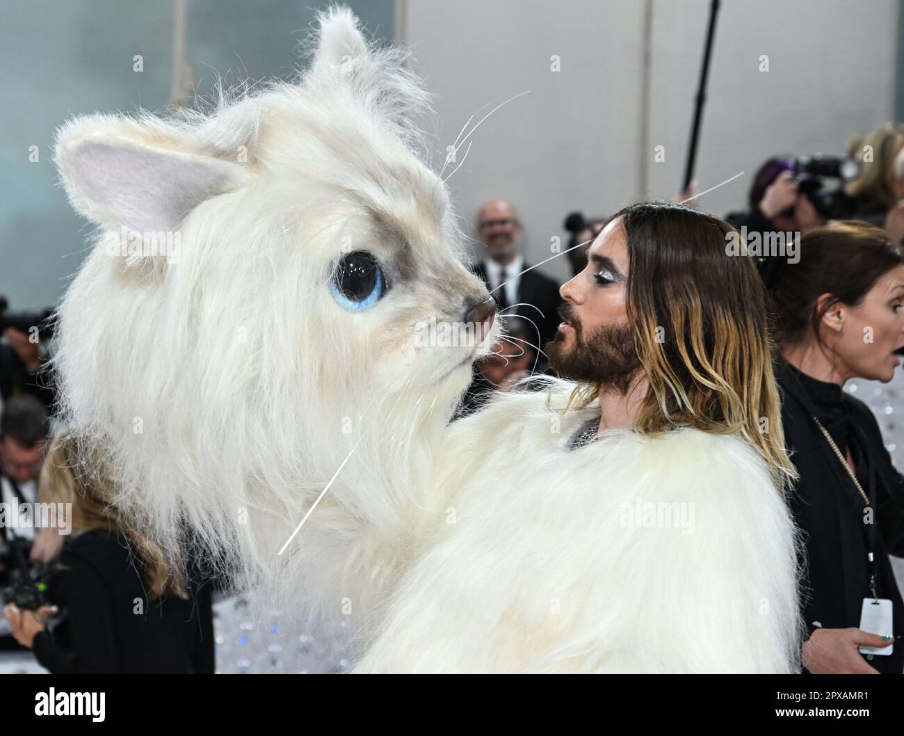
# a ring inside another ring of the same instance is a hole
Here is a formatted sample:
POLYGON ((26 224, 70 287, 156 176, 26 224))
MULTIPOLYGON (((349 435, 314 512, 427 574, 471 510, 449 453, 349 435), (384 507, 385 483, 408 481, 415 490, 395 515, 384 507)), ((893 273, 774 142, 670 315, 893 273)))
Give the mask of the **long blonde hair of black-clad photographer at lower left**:
POLYGON ((69 504, 71 533, 95 529, 113 533, 119 529, 132 545, 141 563, 142 577, 151 598, 172 592, 187 599, 184 577, 177 566, 146 536, 123 523, 112 505, 112 481, 99 453, 91 452, 63 429, 52 439, 41 470, 38 494, 44 504, 69 504))

